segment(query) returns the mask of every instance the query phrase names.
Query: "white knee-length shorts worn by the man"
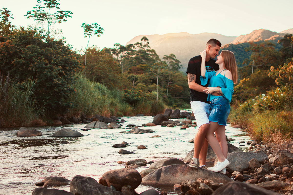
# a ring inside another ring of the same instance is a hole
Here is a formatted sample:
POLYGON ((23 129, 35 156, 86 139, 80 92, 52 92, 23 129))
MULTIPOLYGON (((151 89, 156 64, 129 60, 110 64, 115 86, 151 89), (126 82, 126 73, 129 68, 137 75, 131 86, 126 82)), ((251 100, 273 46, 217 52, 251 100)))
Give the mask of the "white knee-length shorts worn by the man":
POLYGON ((203 124, 209 124, 209 114, 211 113, 211 106, 209 103, 202 101, 190 101, 190 106, 198 127, 203 124))

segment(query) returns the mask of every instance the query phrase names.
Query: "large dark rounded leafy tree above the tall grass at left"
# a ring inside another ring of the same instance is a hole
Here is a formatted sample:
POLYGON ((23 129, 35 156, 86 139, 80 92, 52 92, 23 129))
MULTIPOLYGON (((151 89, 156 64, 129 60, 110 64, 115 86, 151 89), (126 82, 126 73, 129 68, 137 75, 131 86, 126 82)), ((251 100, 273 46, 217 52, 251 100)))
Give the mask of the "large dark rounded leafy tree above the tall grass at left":
POLYGON ((35 30, 15 30, 0 36, 0 68, 20 82, 35 80, 36 101, 48 113, 67 113, 74 91, 79 56, 63 40, 43 37, 35 30))

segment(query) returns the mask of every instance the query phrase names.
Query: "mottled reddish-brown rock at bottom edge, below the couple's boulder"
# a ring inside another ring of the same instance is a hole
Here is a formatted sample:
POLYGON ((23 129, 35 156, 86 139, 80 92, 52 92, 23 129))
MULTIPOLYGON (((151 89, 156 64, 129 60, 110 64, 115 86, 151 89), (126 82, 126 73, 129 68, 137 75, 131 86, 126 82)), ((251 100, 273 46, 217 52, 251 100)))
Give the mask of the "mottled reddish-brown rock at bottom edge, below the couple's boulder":
POLYGON ((195 180, 185 180, 181 184, 181 191, 186 193, 188 190, 198 191, 202 195, 210 195, 214 192, 208 185, 195 180))

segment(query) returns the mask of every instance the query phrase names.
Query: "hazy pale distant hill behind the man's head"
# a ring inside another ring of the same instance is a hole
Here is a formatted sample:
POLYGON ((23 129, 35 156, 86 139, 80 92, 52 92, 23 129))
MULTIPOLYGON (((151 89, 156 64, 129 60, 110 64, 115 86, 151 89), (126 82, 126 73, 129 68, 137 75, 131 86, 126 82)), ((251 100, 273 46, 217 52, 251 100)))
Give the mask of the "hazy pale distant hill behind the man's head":
POLYGON ((185 72, 190 58, 197 56, 205 49, 205 44, 211 38, 218 39, 222 45, 231 43, 236 37, 226 37, 222 34, 201 33, 189 34, 187 32, 170 33, 163 35, 139 35, 134 37, 128 44, 140 42, 140 39, 146 36, 149 39, 149 46, 156 50, 162 59, 164 55, 175 54, 176 58, 181 61, 185 72))

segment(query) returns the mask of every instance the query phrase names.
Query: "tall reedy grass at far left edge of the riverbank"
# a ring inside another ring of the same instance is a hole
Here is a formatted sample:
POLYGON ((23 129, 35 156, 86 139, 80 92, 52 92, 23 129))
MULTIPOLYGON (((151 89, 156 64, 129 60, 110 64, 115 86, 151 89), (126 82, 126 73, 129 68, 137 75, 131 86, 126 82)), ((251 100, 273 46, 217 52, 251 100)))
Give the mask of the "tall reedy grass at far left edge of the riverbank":
POLYGON ((0 127, 45 124, 40 120, 45 108, 35 103, 34 84, 32 79, 20 85, 0 76, 0 127))

